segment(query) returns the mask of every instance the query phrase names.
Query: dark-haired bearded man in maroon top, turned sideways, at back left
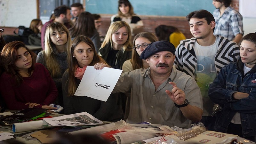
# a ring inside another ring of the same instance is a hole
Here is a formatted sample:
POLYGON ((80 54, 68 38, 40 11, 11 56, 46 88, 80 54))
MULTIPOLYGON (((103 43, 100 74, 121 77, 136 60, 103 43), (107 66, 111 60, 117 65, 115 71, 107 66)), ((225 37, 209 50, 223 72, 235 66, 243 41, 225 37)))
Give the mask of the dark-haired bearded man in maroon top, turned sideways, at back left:
POLYGON ((43 50, 44 50, 44 44, 45 44, 44 43, 45 30, 50 23, 60 22, 60 23, 64 24, 67 28, 71 28, 71 26, 72 26, 70 24, 70 19, 72 17, 71 13, 70 13, 70 8, 67 7, 66 5, 61 5, 57 8, 55 8, 54 16, 55 16, 55 19, 46 22, 41 29, 41 45, 42 45, 43 50))

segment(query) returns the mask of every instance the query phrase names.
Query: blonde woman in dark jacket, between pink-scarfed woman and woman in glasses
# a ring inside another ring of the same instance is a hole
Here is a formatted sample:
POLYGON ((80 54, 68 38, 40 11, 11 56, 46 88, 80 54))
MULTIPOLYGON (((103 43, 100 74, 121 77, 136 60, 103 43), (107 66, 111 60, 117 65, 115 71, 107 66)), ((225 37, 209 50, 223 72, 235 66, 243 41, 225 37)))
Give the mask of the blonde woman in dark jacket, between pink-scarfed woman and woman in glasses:
POLYGON ((124 21, 116 21, 108 28, 101 44, 99 55, 112 68, 122 69, 124 61, 132 58, 130 26, 124 21))

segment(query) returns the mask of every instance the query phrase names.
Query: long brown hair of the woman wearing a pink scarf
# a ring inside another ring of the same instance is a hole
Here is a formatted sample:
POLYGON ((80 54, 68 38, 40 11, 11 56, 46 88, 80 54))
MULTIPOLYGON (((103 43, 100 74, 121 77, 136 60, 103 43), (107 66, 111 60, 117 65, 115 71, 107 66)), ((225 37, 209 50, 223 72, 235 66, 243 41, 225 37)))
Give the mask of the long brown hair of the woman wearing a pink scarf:
MULTIPOLYGON (((89 66, 94 66, 96 63, 98 62, 104 62, 107 63, 105 60, 103 60, 96 52, 95 50, 95 46, 92 42, 92 40, 87 37, 87 36, 76 36, 72 42, 71 48, 68 52, 68 81, 66 82, 66 84, 68 84, 68 96, 73 96, 76 92, 76 77, 74 76, 75 70, 76 70, 76 66, 78 65, 78 62, 76 60, 75 57, 73 57, 74 55, 74 51, 76 49, 76 46, 80 43, 86 43, 88 44, 93 51, 93 59, 92 62, 89 64, 89 66)), ((67 91, 67 90, 65 90, 67 91)))

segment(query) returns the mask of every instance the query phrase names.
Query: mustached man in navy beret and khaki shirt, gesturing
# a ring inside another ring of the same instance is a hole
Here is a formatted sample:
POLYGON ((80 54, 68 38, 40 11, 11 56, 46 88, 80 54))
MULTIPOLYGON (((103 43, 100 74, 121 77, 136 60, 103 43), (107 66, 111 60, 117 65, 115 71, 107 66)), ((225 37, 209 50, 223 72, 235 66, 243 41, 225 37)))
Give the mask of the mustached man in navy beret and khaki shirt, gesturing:
POLYGON ((202 96, 196 81, 172 68, 175 47, 168 41, 151 43, 140 58, 149 68, 122 73, 113 92, 131 92, 127 123, 191 127, 201 120, 202 96))

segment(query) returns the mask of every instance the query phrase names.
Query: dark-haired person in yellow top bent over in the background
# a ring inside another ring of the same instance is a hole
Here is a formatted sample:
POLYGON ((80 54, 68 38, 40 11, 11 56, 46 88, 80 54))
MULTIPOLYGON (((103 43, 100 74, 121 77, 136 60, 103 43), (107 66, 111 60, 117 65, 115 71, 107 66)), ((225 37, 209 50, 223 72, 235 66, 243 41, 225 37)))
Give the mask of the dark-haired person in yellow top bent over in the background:
POLYGON ((180 44, 180 40, 186 39, 184 34, 173 26, 160 25, 156 27, 155 31, 159 41, 170 41, 176 48, 180 44))

